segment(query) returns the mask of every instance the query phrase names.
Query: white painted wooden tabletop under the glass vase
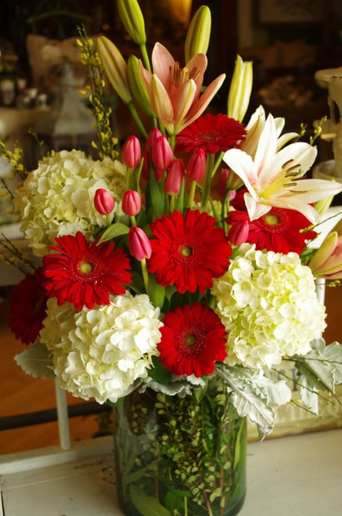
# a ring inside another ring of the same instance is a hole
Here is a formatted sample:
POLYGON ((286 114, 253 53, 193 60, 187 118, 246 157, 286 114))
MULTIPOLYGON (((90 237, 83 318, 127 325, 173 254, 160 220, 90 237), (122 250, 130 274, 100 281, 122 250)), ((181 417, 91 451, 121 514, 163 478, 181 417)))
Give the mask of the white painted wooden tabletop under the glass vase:
MULTIPOLYGON (((342 429, 251 443, 247 454, 239 516, 342 514, 342 429)), ((111 437, 1 459, 1 516, 122 516, 111 437)))

